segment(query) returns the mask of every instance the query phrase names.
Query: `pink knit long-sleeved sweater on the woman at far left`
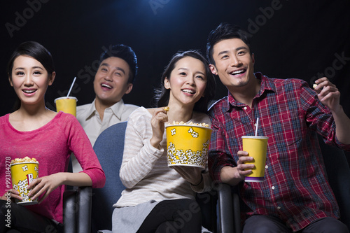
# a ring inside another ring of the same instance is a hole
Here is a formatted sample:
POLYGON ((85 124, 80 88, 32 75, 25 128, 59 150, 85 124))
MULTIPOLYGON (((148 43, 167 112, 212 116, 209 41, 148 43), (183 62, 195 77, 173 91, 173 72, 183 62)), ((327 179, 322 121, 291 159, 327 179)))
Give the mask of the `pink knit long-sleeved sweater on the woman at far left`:
MULTIPOLYGON (((0 195, 6 185, 6 161, 22 157, 35 157, 39 162, 39 177, 66 171, 71 153, 76 155, 83 171, 92 179, 92 188, 102 188, 106 181, 83 128, 73 115, 57 113, 43 127, 20 132, 10 125, 9 114, 0 118, 0 195)), ((7 162, 8 163, 8 162, 7 162)), ((11 187, 12 188, 12 185, 11 187)), ((41 203, 27 209, 62 223, 64 185, 53 190, 41 203)))

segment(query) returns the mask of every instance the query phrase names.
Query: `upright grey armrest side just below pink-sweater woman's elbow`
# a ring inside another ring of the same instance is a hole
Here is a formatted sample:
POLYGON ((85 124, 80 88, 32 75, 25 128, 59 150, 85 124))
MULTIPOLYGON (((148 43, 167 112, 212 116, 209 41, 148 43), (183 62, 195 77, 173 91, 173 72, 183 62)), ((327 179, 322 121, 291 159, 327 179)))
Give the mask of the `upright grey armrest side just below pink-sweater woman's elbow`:
POLYGON ((79 187, 78 196, 78 215, 77 215, 77 232, 91 232, 91 206, 92 206, 92 187, 79 187))

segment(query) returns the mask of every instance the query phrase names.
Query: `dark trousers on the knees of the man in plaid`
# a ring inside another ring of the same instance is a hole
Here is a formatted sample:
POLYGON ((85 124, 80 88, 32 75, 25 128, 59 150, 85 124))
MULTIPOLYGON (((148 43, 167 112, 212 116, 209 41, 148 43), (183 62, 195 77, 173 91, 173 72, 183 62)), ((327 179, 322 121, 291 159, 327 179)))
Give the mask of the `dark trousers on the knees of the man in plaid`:
MULTIPOLYGON (((251 216, 246 220, 243 227, 244 233, 291 233, 279 218, 272 216, 251 216)), ((299 233, 349 233, 344 223, 335 218, 321 218, 300 230, 299 233)))

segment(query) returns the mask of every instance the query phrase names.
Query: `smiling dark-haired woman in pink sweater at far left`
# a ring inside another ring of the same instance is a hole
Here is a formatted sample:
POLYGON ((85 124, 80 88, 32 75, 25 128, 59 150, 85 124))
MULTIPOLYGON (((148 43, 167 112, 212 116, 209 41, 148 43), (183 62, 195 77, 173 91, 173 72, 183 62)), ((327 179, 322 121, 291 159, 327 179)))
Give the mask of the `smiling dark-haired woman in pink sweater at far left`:
POLYGON ((8 62, 8 80, 20 107, 0 118, 0 232, 60 232, 65 185, 104 186, 104 171, 78 120, 45 107, 55 76, 50 52, 33 41, 20 44, 8 62), (80 173, 66 172, 71 153, 83 167, 80 173), (29 197, 38 198, 31 206, 15 204, 22 197, 6 184, 5 164, 26 156, 39 162, 38 178, 28 185, 29 197))

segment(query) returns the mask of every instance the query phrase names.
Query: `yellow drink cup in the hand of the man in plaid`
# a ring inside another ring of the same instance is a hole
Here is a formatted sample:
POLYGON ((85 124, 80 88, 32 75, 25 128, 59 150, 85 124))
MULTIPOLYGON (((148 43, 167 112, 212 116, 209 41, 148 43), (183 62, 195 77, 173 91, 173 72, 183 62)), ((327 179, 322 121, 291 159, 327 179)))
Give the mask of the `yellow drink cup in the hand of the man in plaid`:
POLYGON ((253 157, 252 162, 245 164, 254 164, 252 173, 247 175, 246 182, 262 182, 265 176, 265 164, 267 153, 268 136, 242 136, 243 150, 248 152, 248 156, 253 157))

